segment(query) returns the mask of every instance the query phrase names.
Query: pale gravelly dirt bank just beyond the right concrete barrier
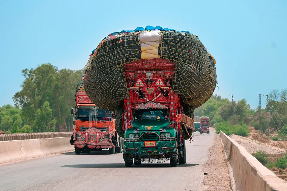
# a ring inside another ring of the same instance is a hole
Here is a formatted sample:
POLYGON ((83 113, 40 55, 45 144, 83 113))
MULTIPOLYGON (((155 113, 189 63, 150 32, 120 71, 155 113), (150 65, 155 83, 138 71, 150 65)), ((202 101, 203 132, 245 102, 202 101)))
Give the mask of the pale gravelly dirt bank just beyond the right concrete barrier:
POLYGON ((281 154, 286 151, 278 147, 271 146, 266 143, 262 143, 250 138, 241 137, 238 135, 231 135, 236 142, 238 142, 242 147, 244 147, 248 153, 256 153, 259 150, 265 151, 268 154, 281 154))

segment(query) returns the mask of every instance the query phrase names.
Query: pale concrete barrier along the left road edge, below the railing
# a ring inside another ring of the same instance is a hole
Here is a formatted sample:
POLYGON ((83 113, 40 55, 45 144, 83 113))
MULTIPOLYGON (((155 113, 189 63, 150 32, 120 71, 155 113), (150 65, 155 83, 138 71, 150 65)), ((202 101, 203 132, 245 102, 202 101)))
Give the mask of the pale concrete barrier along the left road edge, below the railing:
POLYGON ((2 141, 0 142, 0 164, 21 159, 64 153, 74 150, 71 137, 2 141))

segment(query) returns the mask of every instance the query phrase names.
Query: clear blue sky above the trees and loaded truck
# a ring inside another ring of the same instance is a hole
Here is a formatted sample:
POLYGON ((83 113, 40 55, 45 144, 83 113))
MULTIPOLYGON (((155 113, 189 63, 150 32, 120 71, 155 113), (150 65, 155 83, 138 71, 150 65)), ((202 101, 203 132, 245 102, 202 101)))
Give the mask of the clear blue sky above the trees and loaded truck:
POLYGON ((152 25, 199 36, 217 62, 215 93, 254 108, 259 93, 286 88, 286 10, 285 0, 1 1, 0 106, 13 104, 22 69, 83 68, 109 33, 152 25))

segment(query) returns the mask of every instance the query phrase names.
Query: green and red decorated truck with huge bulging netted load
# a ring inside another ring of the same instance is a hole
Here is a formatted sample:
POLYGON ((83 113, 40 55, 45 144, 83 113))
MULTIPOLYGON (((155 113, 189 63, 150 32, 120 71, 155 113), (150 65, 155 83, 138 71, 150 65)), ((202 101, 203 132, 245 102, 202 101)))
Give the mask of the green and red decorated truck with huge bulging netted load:
POLYGON ((186 163, 194 109, 215 89, 215 64, 197 36, 162 27, 111 33, 92 51, 84 87, 97 107, 116 110, 126 167, 186 163))

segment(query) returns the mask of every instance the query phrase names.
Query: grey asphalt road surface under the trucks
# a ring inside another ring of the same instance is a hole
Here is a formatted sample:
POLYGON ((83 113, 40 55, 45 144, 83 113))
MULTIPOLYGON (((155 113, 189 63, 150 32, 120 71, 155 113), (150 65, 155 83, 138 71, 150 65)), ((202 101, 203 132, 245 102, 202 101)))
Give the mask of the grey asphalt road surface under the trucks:
POLYGON ((124 190, 195 191, 207 190, 201 181, 203 165, 213 145, 215 132, 195 133, 194 142, 186 141, 187 163, 170 167, 142 163, 125 167, 123 155, 108 150, 75 155, 57 154, 0 165, 0 191, 4 190, 124 190))

